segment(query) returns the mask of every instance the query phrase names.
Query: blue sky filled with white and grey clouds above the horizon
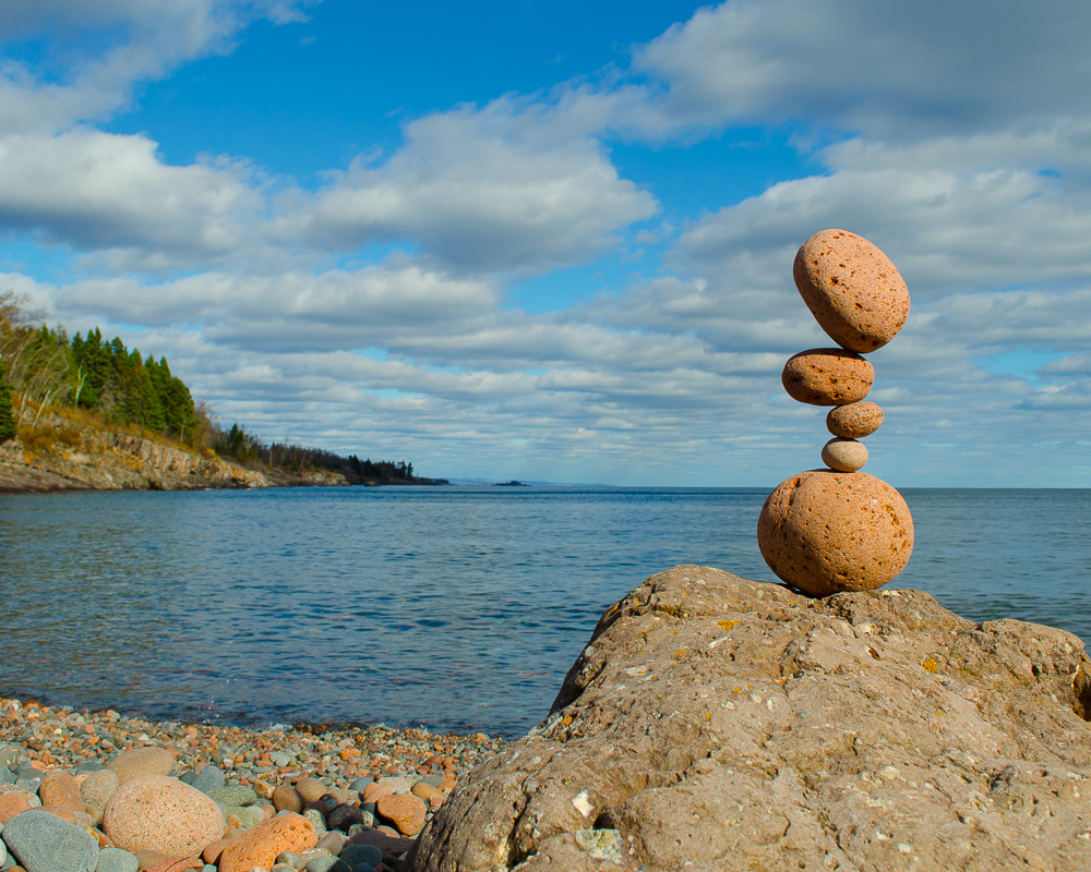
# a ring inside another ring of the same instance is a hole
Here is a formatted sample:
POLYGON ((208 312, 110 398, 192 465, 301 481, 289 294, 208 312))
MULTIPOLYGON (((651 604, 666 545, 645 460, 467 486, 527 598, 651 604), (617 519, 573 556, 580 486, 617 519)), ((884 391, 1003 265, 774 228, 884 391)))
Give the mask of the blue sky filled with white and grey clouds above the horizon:
POLYGON ((0 5, 0 288, 422 474, 771 486, 792 282, 904 276, 897 486, 1091 486, 1091 5, 0 5))

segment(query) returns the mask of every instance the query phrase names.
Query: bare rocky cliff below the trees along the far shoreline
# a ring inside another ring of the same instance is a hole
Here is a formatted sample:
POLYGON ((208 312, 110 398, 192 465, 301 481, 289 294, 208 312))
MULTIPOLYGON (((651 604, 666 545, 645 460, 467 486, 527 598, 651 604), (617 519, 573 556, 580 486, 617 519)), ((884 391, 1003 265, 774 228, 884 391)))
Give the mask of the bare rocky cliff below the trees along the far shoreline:
POLYGON ((53 416, 49 438, 0 445, 0 492, 193 491, 208 487, 346 484, 327 471, 249 470, 213 455, 53 416))

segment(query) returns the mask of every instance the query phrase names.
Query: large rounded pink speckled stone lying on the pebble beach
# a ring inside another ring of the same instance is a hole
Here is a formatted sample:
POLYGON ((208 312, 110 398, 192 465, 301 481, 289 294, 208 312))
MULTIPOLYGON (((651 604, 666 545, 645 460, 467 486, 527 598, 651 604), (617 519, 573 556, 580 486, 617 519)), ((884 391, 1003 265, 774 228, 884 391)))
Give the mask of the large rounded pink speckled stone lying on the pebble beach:
POLYGON ((190 857, 224 835, 224 815, 212 799, 188 784, 166 775, 143 775, 121 785, 110 799, 103 831, 128 851, 152 849, 190 857))

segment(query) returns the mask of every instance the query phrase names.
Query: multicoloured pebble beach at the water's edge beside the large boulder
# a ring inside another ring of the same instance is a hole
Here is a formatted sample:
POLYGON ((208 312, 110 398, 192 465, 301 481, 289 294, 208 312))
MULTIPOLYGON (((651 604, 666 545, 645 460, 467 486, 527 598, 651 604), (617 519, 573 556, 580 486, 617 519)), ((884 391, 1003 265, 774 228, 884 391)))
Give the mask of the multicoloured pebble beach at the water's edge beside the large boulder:
POLYGON ((384 872, 505 746, 425 728, 152 722, 0 699, 0 868, 384 872))

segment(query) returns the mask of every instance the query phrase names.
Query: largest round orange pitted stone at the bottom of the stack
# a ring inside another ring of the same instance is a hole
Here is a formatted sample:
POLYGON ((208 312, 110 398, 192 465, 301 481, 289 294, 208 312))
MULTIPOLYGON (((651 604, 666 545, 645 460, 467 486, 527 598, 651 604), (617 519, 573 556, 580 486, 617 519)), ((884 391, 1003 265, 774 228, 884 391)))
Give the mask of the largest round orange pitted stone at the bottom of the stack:
POLYGON ((769 568, 812 596, 866 591, 913 553, 913 519, 894 487, 865 472, 808 470, 765 500, 757 544, 769 568))

